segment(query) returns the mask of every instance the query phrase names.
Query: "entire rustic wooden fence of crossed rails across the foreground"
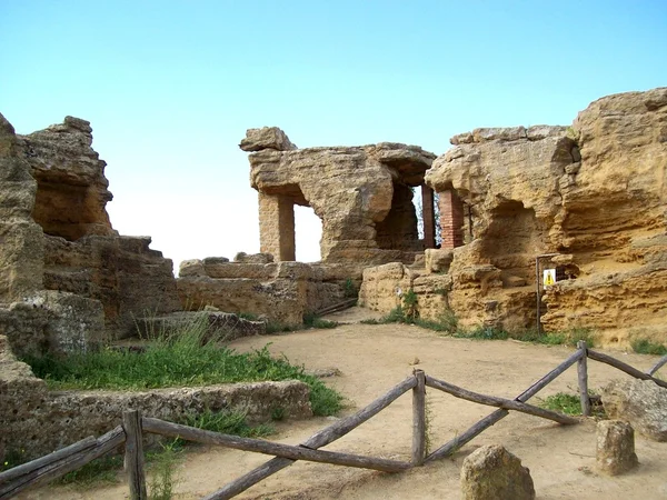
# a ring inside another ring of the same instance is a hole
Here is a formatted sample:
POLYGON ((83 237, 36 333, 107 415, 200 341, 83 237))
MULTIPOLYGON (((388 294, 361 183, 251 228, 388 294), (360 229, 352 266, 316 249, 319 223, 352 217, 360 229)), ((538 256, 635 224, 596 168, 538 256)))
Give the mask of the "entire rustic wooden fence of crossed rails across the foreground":
POLYGON ((579 420, 574 417, 535 407, 528 404, 526 401, 548 386, 569 367, 577 363, 581 412, 584 416, 589 416, 588 358, 610 364, 635 378, 653 380, 658 386, 667 388, 667 382, 653 377, 663 366, 667 364, 667 356, 663 357, 650 370, 648 370, 648 372, 645 373, 610 356, 588 349, 586 342, 581 341, 578 343, 577 350, 571 356, 515 399, 505 399, 472 392, 429 377, 421 370, 415 370, 411 377, 408 377, 402 382, 395 386, 385 396, 376 399, 362 410, 359 410, 350 417, 338 420, 298 446, 210 432, 188 426, 166 422, 159 419, 141 417, 139 411, 129 410, 123 412, 122 426, 118 426, 116 429, 98 439, 92 437, 86 438, 46 457, 41 457, 0 473, 0 500, 11 498, 23 490, 61 478, 68 472, 77 470, 86 463, 113 451, 122 443, 125 443, 125 466, 128 472, 130 498, 132 500, 143 500, 148 498, 143 471, 143 432, 170 438, 182 438, 207 444, 220 444, 227 448, 253 451, 275 457, 262 466, 209 494, 206 497, 207 500, 232 498, 262 479, 291 466, 297 460, 375 469, 385 472, 400 472, 451 454, 481 433, 485 429, 505 418, 509 413, 509 410, 541 417, 561 424, 577 423, 579 420), (498 409, 479 420, 467 431, 445 443, 432 453, 426 456, 426 387, 447 392, 457 398, 496 407, 498 409), (410 462, 341 453, 337 451, 323 451, 319 449, 336 441, 378 414, 409 390, 412 391, 412 456, 410 462))

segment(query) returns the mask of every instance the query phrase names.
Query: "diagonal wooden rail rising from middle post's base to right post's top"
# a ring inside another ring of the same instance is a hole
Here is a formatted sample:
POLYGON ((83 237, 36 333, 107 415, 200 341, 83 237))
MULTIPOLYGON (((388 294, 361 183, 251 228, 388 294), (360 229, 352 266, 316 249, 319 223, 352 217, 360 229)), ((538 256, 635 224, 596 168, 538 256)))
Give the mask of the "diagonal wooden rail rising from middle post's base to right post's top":
MULTIPOLYGON (((537 382, 535 382, 532 386, 530 386, 528 389, 526 389, 524 392, 521 392, 519 396, 517 396, 515 398, 515 401, 520 401, 520 402, 528 401, 530 398, 532 398, 535 394, 537 394, 540 390, 542 390, 545 387, 547 387, 549 383, 551 383, 565 370, 567 370, 573 364, 575 364, 581 356, 585 356, 585 351, 578 349, 576 352, 570 354, 569 358, 567 358, 565 361, 563 361, 560 364, 558 364, 558 367, 554 368, 550 372, 548 372, 546 376, 544 376, 541 379, 539 379, 537 382)), ((507 411, 505 409, 494 411, 492 413, 488 414, 487 417, 482 418, 477 423, 475 423, 472 427, 470 427, 470 429, 466 430, 465 432, 461 432, 459 436, 457 436, 456 438, 454 438, 449 442, 442 444, 436 451, 430 453, 426 458, 426 461, 430 462, 430 461, 438 460, 438 459, 445 458, 445 457, 454 453, 460 447, 462 447, 464 444, 466 444, 467 442, 472 440, 476 436, 479 436, 481 432, 484 432, 486 429, 491 427, 494 423, 498 422, 499 420, 502 420, 508 414, 509 414, 509 411, 507 411)))

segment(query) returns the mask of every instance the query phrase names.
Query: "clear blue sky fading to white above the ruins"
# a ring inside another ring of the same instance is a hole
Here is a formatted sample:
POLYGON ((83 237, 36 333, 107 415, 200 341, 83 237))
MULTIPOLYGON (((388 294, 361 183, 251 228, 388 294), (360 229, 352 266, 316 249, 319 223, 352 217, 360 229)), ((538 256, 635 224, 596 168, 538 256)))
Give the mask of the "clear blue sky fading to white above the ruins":
MULTIPOLYGON (((113 227, 177 267, 259 250, 248 128, 441 154, 665 86, 661 0, 0 0, 0 112, 19 133, 90 120, 113 227)), ((317 260, 317 219, 297 217, 297 257, 317 260)))

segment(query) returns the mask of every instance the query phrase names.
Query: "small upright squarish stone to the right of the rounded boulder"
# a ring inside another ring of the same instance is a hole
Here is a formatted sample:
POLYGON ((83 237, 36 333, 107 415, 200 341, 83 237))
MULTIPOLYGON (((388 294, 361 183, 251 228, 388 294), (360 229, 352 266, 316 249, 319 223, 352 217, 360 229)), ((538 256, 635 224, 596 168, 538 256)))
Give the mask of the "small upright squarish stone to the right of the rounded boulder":
POLYGON ((617 476, 637 467, 635 430, 621 420, 603 420, 597 424, 597 467, 617 476))

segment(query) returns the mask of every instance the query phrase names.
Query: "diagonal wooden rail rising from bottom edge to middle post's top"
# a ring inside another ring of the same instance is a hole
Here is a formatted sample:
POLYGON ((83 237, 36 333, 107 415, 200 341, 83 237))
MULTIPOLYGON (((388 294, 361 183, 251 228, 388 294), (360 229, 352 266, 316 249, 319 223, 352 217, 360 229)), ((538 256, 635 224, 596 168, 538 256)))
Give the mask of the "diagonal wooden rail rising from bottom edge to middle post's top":
MULTIPOLYGON (((307 441, 305 441, 302 444, 300 444, 300 447, 318 449, 336 441, 340 437, 350 432, 352 429, 359 427, 361 423, 378 414, 405 392, 412 389, 416 384, 417 379, 415 377, 408 377, 402 382, 398 383, 391 390, 389 390, 385 396, 376 399, 366 408, 359 410, 355 414, 341 419, 338 422, 329 426, 328 428, 319 431, 318 433, 309 438, 307 441)), ((262 479, 266 479, 269 476, 275 474, 279 470, 291 466, 293 462, 295 460, 292 459, 276 457, 262 463, 258 468, 251 470, 250 472, 246 473, 245 476, 241 476, 240 478, 231 481, 218 491, 215 491, 213 493, 209 494, 208 497, 206 497, 205 500, 230 499, 239 494, 241 491, 246 491, 251 486, 257 484, 262 479)))

